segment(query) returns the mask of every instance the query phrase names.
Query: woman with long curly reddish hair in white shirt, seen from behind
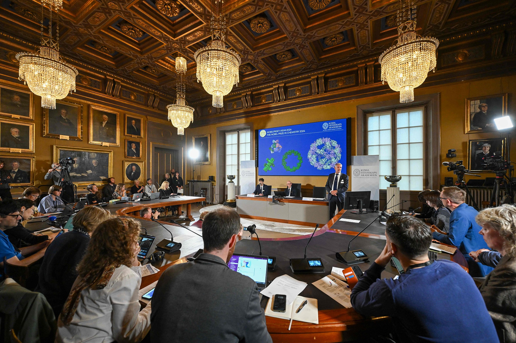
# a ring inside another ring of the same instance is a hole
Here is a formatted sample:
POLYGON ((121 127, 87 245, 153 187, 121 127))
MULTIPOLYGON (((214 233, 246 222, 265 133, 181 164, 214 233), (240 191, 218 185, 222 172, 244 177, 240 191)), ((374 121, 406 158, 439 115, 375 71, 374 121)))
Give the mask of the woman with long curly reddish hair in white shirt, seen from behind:
POLYGON ((91 237, 58 320, 56 342, 137 343, 149 332, 151 303, 140 311, 140 223, 115 218, 91 237))

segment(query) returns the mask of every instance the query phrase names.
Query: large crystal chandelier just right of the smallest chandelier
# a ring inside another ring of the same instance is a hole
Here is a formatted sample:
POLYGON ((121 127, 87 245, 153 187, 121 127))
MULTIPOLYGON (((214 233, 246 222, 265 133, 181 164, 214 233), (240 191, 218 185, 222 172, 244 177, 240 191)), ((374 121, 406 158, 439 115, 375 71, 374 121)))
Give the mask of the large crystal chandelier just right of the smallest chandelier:
POLYGON ((196 51, 197 82, 213 96, 212 106, 223 107, 222 98, 238 84, 238 53, 225 45, 224 0, 212 0, 212 19, 209 23, 212 40, 196 51))

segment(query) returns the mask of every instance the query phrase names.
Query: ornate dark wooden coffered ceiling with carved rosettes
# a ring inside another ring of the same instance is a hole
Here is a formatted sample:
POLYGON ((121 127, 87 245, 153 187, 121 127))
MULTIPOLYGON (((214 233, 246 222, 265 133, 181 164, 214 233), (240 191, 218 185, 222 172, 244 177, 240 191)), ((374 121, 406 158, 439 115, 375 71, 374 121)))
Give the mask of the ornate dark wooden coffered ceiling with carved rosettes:
MULTIPOLYGON (((516 0, 415 3, 420 34, 439 39, 505 23, 516 13, 516 0)), ((397 0, 228 0, 226 4, 227 43, 242 60, 234 92, 352 61, 374 60, 397 36, 397 0)), ((39 6, 34 0, 4 0, 0 31, 38 45, 39 6)), ((210 98, 197 82, 193 61, 193 53, 209 40, 209 0, 64 0, 59 13, 63 56, 172 96, 174 56, 179 54, 188 63, 187 100, 210 98)), ((48 25, 46 16, 43 21, 48 25)), ((11 52, 19 51, 6 54, 11 52)), ((466 56, 466 52, 464 58, 474 53, 466 56)), ((350 82, 345 77, 335 80, 335 87, 350 82)), ((293 96, 305 92, 301 86, 292 89, 293 96)), ((260 99, 266 103, 269 98, 264 94, 260 99)))

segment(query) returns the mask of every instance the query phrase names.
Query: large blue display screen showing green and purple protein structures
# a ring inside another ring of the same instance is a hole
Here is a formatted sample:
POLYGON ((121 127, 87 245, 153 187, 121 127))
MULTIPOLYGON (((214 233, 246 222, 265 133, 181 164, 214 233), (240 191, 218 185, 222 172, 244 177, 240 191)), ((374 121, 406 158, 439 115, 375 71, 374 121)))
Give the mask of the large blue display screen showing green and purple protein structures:
POLYGON ((258 130, 259 175, 328 175, 346 171, 347 119, 258 130))

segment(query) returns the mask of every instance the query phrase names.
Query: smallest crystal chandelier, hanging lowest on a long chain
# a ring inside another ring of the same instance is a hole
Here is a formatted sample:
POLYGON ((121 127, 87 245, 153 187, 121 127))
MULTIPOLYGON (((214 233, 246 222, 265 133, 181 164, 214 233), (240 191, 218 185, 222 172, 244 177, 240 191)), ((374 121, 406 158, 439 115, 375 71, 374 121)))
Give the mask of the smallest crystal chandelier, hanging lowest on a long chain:
POLYGON ((167 106, 168 119, 178 128, 178 135, 185 134, 185 128, 193 122, 193 107, 188 106, 185 100, 186 86, 183 76, 186 74, 186 60, 183 57, 175 58, 175 103, 167 106))

